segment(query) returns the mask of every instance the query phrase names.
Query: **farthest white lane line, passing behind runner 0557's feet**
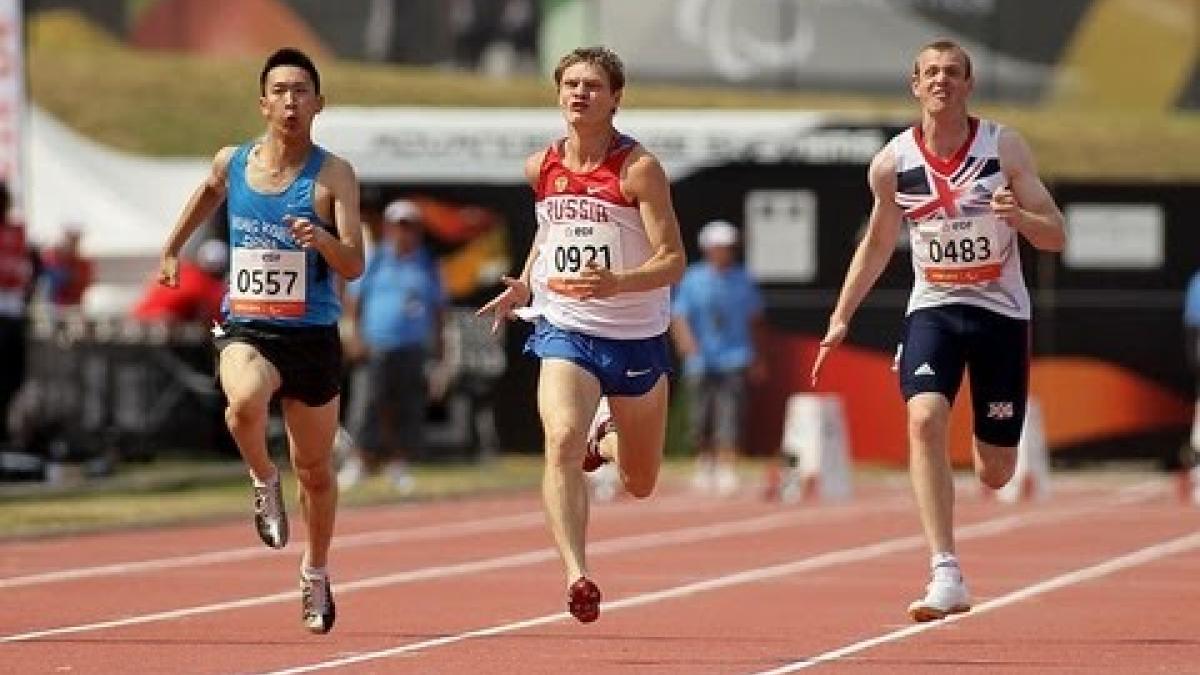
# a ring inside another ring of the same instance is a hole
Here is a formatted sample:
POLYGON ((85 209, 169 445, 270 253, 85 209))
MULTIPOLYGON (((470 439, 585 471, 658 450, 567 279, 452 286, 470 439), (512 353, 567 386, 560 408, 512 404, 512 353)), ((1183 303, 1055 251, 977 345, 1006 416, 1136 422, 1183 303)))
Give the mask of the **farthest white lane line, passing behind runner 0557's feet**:
MULTIPOLYGON (((664 513, 671 513, 670 507, 677 501, 691 501, 685 496, 672 496, 661 500, 666 506, 664 513)), ((625 504, 613 504, 611 510, 630 510, 632 502, 625 504)), ((697 504, 696 508, 702 508, 697 504)), ((520 530, 522 527, 544 526, 546 516, 541 510, 516 513, 511 515, 499 515, 467 520, 460 522, 421 525, 415 527, 402 527, 358 534, 342 534, 334 538, 334 550, 353 549, 361 546, 376 546, 394 544, 397 542, 433 540, 462 537, 468 534, 480 534, 486 532, 505 532, 520 530)), ((242 560, 268 557, 278 555, 278 551, 266 546, 244 546, 236 549, 223 549, 206 551, 202 554, 160 557, 131 562, 114 562, 91 567, 73 567, 68 569, 56 569, 52 572, 40 572, 20 577, 8 577, 0 579, 0 590, 18 589, 23 586, 37 586, 42 584, 56 584, 64 581, 78 581, 80 579, 96 579, 101 577, 116 577, 121 574, 137 574, 142 572, 160 572, 163 569, 178 569, 182 567, 196 567, 203 565, 221 565, 238 562, 242 560)))

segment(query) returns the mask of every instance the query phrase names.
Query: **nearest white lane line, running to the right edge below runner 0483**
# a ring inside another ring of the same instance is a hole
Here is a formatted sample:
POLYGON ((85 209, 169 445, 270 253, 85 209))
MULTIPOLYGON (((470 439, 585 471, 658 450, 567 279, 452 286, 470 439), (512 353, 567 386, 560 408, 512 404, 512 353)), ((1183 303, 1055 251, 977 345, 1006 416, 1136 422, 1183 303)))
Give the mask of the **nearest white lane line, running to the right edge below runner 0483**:
POLYGON ((1102 577, 1108 577, 1109 574, 1120 572, 1122 569, 1128 569, 1130 567, 1136 567, 1139 565, 1146 565, 1147 562, 1153 562, 1156 560, 1178 555, 1182 552, 1190 551, 1193 549, 1200 548, 1200 532, 1162 542, 1146 546, 1144 549, 1135 550, 1133 552, 1106 560, 1104 562, 1093 565, 1091 567, 1084 567, 1068 572, 1066 574, 1060 574, 1045 581, 1039 581, 1032 586, 1026 586, 1019 591, 992 598, 985 603, 982 603, 971 609, 966 614, 954 614, 942 621, 931 621, 929 623, 916 623, 907 628, 901 628, 899 631, 893 631, 892 633, 884 633, 868 640, 862 640, 852 645, 846 645, 844 647, 827 651, 817 656, 806 658, 804 661, 797 661, 787 665, 781 665, 779 668, 773 668, 770 670, 762 670, 755 675, 782 675, 784 673, 796 673, 797 670, 804 670, 812 668, 814 665, 820 665, 822 663, 829 663, 839 658, 851 656, 862 651, 866 651, 871 647, 877 647, 887 643, 894 643, 902 640, 905 638, 911 638, 924 633, 925 631, 934 631, 942 626, 954 623, 955 621, 965 621, 973 616, 979 616, 980 614, 986 614, 994 609, 1001 609, 1010 604, 1027 601, 1034 596, 1040 596, 1043 593, 1049 593, 1051 591, 1057 591, 1060 589, 1066 589, 1068 586, 1075 586, 1085 581, 1093 581, 1102 577))

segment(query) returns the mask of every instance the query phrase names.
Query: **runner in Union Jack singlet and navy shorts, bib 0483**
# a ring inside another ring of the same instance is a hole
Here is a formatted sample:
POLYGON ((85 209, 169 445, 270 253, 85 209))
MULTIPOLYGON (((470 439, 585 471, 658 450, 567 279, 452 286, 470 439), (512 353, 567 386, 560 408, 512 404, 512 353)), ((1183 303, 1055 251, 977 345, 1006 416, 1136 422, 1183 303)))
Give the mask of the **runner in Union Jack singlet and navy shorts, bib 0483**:
POLYGON ((898 366, 908 467, 931 552, 926 592, 908 607, 916 621, 971 608, 954 549, 947 448, 962 372, 971 374, 976 472, 998 489, 1015 468, 1028 388, 1030 295, 1018 234, 1042 251, 1066 243, 1062 214, 1020 135, 967 114, 973 85, 971 58, 959 44, 942 40, 917 53, 912 94, 922 120, 871 161, 868 232, 812 365, 816 386, 907 227, 916 279, 898 366))

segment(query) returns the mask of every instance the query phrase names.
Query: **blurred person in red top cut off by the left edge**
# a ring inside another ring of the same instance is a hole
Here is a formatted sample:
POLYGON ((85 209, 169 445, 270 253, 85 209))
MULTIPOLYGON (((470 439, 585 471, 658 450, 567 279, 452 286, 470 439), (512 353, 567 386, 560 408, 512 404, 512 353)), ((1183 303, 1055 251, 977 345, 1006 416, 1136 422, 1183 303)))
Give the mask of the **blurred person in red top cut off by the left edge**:
POLYGON ((12 197, 0 181, 0 440, 8 440, 8 407, 25 380, 29 300, 37 255, 25 240, 25 227, 10 217, 12 197))

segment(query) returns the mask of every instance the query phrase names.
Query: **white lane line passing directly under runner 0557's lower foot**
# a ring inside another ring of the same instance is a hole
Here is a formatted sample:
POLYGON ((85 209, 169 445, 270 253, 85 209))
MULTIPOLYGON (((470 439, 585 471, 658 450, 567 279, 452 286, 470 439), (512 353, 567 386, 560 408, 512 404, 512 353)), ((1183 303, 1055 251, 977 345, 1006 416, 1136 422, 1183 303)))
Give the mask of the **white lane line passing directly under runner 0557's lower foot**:
MULTIPOLYGON (((650 534, 634 534, 629 537, 618 537, 614 539, 602 539, 594 543, 590 546, 589 554, 590 555, 617 554, 617 552, 628 552, 641 549, 653 549, 668 544, 703 542, 720 537, 764 532, 773 528, 800 525, 811 520, 828 521, 830 519, 840 520, 848 518, 859 518, 864 512, 876 513, 881 510, 887 510, 888 508, 900 508, 901 506, 906 504, 907 500, 892 500, 889 502, 883 502, 882 504, 881 503, 875 503, 870 506, 858 504, 858 506, 833 507, 829 509, 821 509, 821 510, 814 509, 803 512, 791 510, 791 512, 772 513, 768 515, 760 515, 743 520, 732 520, 726 522, 719 522, 715 525, 691 526, 678 530, 666 530, 661 532, 654 532, 650 534)), ((523 567, 528 565, 536 565, 540 562, 556 560, 557 557, 558 552, 553 549, 550 548, 538 549, 538 550, 510 554, 479 561, 469 561, 469 562, 461 562, 461 563, 437 566, 437 567, 424 567, 424 568, 400 572, 396 574, 371 577, 367 579, 360 579, 358 581, 348 581, 344 584, 336 583, 335 590, 336 593, 341 596, 348 592, 360 591, 364 589, 376 589, 380 586, 390 586, 396 584, 408 584, 413 581, 443 579, 448 577, 462 577, 469 574, 479 574, 481 572, 493 572, 497 569, 523 567)), ((40 638, 49 638, 53 635, 88 633, 92 631, 118 628, 122 626, 137 626, 142 623, 170 621, 199 614, 227 611, 230 609, 262 607, 278 602, 295 602, 295 599, 296 599, 296 591, 294 590, 280 591, 277 593, 270 593, 265 596, 240 598, 235 601, 211 603, 197 607, 187 607, 187 608, 152 613, 152 614, 126 616, 108 621, 97 621, 92 623, 83 623, 76 626, 60 626, 55 628, 46 628, 26 633, 16 633, 11 635, 0 637, 0 643, 19 643, 19 641, 36 640, 40 638)))

